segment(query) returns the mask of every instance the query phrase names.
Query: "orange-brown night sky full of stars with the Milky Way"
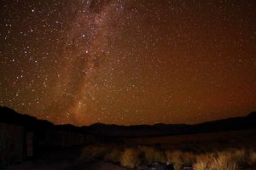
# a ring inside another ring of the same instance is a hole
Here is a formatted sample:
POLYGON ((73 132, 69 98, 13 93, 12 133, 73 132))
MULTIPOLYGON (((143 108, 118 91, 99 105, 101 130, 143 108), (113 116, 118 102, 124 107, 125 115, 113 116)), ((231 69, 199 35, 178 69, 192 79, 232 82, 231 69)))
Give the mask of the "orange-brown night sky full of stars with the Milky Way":
POLYGON ((0 0, 0 105, 56 124, 256 111, 255 0, 0 0))

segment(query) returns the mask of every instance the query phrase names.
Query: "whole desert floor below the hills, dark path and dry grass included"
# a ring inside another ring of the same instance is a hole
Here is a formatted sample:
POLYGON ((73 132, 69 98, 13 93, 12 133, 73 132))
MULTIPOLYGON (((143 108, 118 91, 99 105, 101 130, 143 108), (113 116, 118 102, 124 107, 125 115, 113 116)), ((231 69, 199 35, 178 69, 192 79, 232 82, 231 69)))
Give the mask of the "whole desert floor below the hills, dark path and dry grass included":
POLYGON ((256 169, 255 132, 251 129, 83 145, 46 151, 32 160, 10 166, 8 170, 125 170, 143 169, 143 165, 154 162, 172 163, 175 170, 256 169))

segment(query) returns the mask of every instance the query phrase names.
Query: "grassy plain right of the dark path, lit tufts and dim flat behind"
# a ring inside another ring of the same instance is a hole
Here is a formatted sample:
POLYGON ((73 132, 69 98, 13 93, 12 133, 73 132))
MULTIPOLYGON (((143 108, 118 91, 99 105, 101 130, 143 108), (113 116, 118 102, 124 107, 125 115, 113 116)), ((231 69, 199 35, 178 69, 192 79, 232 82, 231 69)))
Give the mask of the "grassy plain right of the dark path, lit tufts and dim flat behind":
POLYGON ((256 169, 255 133, 252 129, 126 139, 125 144, 92 144, 84 146, 80 159, 103 159, 136 169, 153 169, 155 163, 178 170, 256 169))

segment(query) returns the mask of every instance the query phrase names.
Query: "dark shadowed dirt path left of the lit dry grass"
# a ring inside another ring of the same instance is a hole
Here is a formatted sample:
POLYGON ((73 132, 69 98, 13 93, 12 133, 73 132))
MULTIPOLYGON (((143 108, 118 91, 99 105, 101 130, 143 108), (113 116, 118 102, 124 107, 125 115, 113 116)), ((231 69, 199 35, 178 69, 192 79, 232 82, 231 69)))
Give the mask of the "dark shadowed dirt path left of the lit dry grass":
POLYGON ((81 147, 44 153, 30 161, 9 166, 7 170, 128 170, 107 161, 79 161, 81 147))

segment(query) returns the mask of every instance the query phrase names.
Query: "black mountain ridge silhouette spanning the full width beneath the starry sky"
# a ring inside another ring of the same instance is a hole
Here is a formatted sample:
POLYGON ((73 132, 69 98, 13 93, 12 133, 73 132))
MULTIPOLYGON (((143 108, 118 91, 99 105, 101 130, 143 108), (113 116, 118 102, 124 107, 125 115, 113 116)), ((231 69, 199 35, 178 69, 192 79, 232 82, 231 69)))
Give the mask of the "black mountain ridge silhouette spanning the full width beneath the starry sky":
POLYGON ((75 127, 73 125, 53 125, 51 122, 38 120, 33 116, 20 115, 7 107, 0 107, 0 122, 14 123, 33 130, 50 127, 57 130, 90 133, 98 136, 139 137, 185 133, 210 133, 255 128, 256 112, 252 112, 248 116, 231 117, 212 122, 202 122, 195 125, 157 123, 154 125, 119 126, 95 123, 90 126, 75 127))

